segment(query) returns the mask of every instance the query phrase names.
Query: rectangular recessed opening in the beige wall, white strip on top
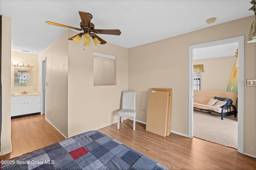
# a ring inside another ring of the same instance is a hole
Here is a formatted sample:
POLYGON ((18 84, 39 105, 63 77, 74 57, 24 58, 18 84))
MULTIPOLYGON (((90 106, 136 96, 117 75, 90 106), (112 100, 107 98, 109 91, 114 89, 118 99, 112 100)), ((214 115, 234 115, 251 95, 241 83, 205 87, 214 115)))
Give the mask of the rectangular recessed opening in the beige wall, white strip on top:
POLYGON ((116 85, 116 56, 94 51, 94 86, 116 85))

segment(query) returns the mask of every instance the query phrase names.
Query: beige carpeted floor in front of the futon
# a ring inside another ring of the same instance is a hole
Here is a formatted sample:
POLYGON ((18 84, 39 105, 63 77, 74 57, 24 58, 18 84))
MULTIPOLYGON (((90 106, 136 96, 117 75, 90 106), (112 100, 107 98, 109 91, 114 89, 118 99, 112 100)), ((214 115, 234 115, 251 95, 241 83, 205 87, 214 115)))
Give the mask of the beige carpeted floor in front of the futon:
POLYGON ((220 115, 194 110, 194 137, 237 149, 237 117, 227 116, 221 120, 220 115))

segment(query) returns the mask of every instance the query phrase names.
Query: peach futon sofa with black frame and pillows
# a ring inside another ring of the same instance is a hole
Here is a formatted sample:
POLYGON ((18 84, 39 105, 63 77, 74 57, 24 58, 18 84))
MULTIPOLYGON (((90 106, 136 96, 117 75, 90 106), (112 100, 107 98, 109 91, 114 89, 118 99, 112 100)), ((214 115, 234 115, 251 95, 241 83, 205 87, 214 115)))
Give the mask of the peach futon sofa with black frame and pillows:
POLYGON ((211 90, 194 90, 194 109, 218 113, 223 117, 234 115, 236 117, 235 92, 221 92, 211 90))

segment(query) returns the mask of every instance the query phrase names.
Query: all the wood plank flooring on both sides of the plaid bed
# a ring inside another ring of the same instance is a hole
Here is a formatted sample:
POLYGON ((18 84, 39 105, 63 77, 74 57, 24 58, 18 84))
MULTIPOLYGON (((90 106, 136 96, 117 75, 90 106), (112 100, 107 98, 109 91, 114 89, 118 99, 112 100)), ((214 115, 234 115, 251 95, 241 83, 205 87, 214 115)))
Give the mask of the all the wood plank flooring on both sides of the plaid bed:
MULTIPOLYGON (((124 123, 120 123, 119 130, 115 123, 98 131, 169 169, 256 170, 256 158, 240 154, 236 149, 174 133, 169 137, 161 137, 146 131, 146 125, 138 122, 136 122, 136 130, 133 131, 132 123, 131 120, 126 119, 124 123)), ((7 160, 64 139, 44 119, 44 115, 12 119, 11 124, 13 152, 0 156, 0 160, 7 160)))

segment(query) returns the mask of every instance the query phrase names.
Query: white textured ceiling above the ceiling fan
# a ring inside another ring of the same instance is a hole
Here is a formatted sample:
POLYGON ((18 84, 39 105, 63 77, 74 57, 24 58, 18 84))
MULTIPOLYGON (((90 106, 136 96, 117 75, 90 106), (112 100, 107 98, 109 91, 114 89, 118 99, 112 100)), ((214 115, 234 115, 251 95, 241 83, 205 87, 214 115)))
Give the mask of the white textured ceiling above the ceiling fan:
POLYGON ((67 30, 45 21, 80 27, 78 11, 93 15, 95 29, 120 29, 120 36, 98 35, 131 48, 252 16, 250 1, 0 0, 0 15, 12 18, 12 50, 38 54, 67 30), (213 17, 216 22, 207 24, 213 17))

